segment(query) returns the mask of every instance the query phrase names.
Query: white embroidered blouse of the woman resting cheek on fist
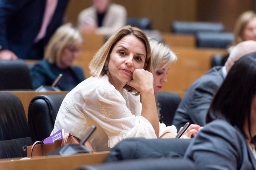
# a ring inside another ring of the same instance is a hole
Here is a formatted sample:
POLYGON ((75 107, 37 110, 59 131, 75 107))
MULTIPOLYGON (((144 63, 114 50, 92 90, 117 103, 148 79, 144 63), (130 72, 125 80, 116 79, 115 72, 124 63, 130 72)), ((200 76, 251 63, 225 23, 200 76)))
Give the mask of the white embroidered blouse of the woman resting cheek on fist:
MULTIPOLYGON (((97 129, 89 141, 96 151, 109 150, 129 137, 157 138, 151 123, 141 116, 140 96, 125 89, 120 93, 106 75, 91 76, 66 95, 52 134, 64 129, 83 139, 92 125, 97 129)), ((175 126, 160 123, 159 136, 166 132, 177 135, 175 126)))

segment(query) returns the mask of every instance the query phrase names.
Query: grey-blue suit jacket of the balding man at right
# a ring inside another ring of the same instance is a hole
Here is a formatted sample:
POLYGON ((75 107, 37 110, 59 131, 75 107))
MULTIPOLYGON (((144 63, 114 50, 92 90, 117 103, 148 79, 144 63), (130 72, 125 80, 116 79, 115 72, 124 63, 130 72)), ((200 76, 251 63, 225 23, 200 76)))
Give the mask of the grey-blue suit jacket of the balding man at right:
POLYGON ((224 80, 222 68, 222 66, 211 68, 187 90, 174 115, 173 125, 177 129, 187 122, 205 125, 206 114, 213 96, 224 80))

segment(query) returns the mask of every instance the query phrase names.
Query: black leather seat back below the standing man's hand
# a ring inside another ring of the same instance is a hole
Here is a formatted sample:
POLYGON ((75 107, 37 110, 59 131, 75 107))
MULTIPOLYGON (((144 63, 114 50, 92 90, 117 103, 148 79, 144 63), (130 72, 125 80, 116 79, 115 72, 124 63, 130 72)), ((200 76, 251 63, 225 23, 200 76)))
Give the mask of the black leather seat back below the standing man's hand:
POLYGON ((0 60, 0 90, 32 89, 29 68, 19 60, 0 60))

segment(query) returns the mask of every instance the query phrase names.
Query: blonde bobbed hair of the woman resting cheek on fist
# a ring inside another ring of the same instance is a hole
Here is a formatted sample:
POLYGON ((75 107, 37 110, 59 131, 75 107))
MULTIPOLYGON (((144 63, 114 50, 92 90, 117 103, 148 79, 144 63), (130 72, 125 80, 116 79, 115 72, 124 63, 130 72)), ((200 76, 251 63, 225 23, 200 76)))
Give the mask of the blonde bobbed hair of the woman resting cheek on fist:
MULTIPOLYGON (((146 34, 140 28, 124 26, 116 31, 92 58, 89 64, 89 69, 92 76, 100 76, 106 74, 106 71, 104 70, 104 64, 106 59, 109 58, 109 55, 111 54, 111 51, 114 48, 115 44, 126 35, 133 35, 143 42, 147 53, 145 58, 145 63, 147 63, 147 66, 144 69, 152 72, 151 50, 146 34)), ((140 94, 136 89, 131 86, 125 85, 124 88, 130 92, 135 92, 136 95, 140 94)))

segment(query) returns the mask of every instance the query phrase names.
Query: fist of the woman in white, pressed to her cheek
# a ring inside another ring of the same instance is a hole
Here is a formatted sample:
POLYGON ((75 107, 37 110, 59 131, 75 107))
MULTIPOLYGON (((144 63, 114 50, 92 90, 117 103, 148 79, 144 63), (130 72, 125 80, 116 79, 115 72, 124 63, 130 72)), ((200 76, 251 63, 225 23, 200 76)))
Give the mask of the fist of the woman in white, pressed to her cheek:
POLYGON ((152 90, 154 78, 151 72, 144 69, 135 69, 132 73, 132 80, 127 82, 127 85, 134 87, 141 93, 152 90))

